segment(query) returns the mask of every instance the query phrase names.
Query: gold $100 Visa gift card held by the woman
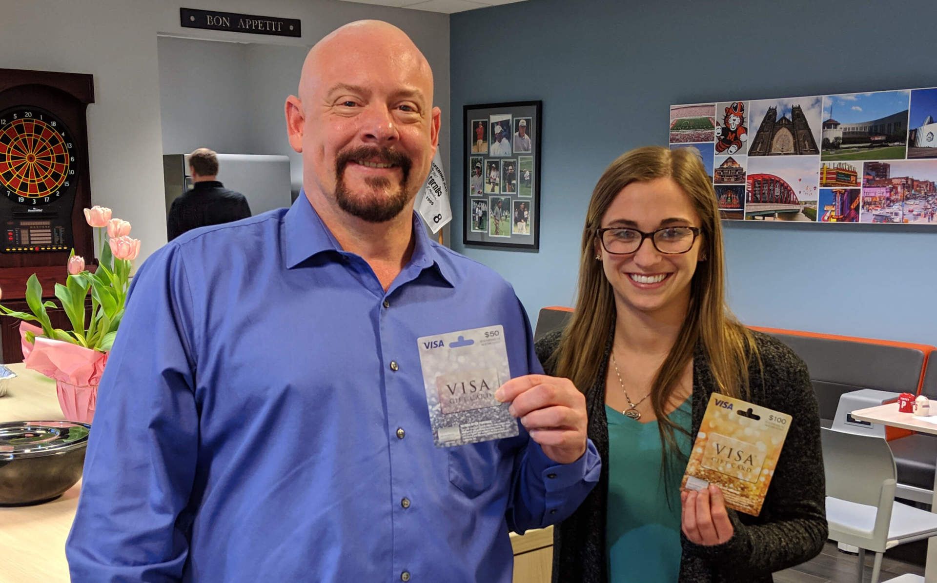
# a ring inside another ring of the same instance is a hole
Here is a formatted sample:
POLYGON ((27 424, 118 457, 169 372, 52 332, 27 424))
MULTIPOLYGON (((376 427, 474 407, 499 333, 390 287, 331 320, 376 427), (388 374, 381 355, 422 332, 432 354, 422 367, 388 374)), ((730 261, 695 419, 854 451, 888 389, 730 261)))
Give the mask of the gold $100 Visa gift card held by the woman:
POLYGON ((791 426, 791 416, 713 393, 681 487, 715 484, 725 505, 758 516, 791 426))

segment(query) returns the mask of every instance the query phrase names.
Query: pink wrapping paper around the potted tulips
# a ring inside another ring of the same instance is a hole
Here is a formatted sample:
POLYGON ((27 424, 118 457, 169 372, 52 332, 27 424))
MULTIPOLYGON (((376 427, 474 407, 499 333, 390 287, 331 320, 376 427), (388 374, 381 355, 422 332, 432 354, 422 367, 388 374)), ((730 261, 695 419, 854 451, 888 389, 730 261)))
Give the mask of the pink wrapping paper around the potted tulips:
POLYGON ((42 328, 20 322, 23 363, 26 368, 55 380, 59 405, 68 421, 91 423, 97 405, 97 385, 108 354, 40 337, 41 334, 42 328), (35 344, 26 341, 26 332, 36 335, 35 344))

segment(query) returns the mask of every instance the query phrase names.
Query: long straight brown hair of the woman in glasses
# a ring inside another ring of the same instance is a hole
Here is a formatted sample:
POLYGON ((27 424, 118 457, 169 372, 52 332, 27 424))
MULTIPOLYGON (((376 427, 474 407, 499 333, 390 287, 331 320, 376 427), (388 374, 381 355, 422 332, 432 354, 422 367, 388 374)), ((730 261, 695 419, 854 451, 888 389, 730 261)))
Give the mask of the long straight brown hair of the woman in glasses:
MULTIPOLYGON (((604 351, 615 330, 617 310, 612 285, 596 261, 596 230, 608 207, 622 188, 632 182, 670 177, 687 194, 700 217, 701 257, 691 281, 687 317, 677 341, 664 359, 651 383, 650 403, 659 421, 663 455, 682 456, 674 438, 683 431, 665 414, 665 407, 677 389, 697 343, 702 344, 709 368, 723 395, 745 398, 749 394, 749 363, 758 358, 751 332, 725 306, 725 265, 719 205, 712 179, 693 148, 668 150, 664 147, 637 148, 618 157, 602 173, 586 215, 579 286, 573 318, 563 332, 558 350, 551 357, 558 377, 573 381, 580 390, 592 386, 602 369, 604 351)), ((664 464, 666 468, 667 464, 664 464)))

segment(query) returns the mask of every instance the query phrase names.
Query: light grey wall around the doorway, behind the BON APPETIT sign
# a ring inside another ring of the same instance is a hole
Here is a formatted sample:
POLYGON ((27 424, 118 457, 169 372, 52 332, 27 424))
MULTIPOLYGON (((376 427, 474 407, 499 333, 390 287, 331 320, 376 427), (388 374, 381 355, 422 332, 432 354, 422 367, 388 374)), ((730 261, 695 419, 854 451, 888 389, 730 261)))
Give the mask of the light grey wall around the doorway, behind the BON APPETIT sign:
MULTIPOLYGON (((203 9, 301 19, 303 37, 288 38, 183 28, 180 4, 168 0, 0 0, 0 6, 0 67, 95 76, 96 102, 88 106, 91 200, 133 223, 142 258, 166 242, 156 58, 160 33, 296 47, 315 44, 347 22, 392 22, 413 38, 433 67, 442 127, 450 127, 446 14, 334 0, 198 3, 203 9)), ((297 70, 293 85, 298 78, 297 70)), ((282 120, 282 111, 277 115, 282 120)), ((440 147, 448 172, 448 139, 443 137, 440 147)))

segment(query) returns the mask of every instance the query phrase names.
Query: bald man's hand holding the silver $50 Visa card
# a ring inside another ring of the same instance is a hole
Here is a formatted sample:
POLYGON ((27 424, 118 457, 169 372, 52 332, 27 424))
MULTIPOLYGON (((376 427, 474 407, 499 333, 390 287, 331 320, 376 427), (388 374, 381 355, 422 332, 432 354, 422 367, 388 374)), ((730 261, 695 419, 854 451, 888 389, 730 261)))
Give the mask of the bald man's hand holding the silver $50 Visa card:
POLYGON ((586 397, 573 381, 546 375, 517 377, 502 384, 495 397, 511 403, 511 414, 553 461, 569 464, 586 453, 586 397))

